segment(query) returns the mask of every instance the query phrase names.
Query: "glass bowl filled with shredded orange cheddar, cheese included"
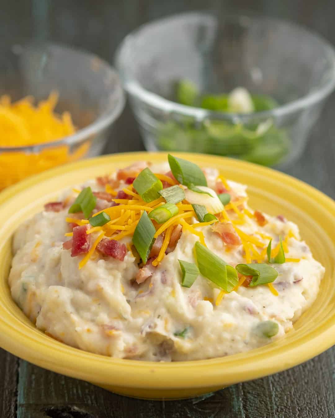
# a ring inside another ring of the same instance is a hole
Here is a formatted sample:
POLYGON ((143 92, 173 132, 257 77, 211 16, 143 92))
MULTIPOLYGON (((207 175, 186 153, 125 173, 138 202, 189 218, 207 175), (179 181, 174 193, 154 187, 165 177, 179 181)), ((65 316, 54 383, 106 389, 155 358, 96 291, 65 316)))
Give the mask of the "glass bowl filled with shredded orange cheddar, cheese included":
POLYGON ((99 155, 124 107, 119 77, 109 64, 54 44, 11 45, 1 57, 0 82, 0 191, 99 155))

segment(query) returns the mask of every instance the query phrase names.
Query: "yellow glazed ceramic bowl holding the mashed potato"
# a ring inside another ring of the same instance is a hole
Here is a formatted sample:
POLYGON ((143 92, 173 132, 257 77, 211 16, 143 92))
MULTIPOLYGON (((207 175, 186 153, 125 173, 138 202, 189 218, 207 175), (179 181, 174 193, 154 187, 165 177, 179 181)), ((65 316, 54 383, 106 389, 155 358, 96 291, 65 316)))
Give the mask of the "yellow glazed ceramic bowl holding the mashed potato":
MULTIPOLYGON (((177 154, 178 155, 178 154, 177 154)), ((127 153, 80 161, 46 171, 0 194, 0 346, 54 372, 139 398, 186 398, 285 370, 335 343, 335 202, 285 174, 213 155, 180 154, 249 186, 250 205, 298 224, 314 257, 326 268, 312 307, 285 338, 247 353, 210 360, 154 363, 113 359, 55 341, 36 329, 10 297, 11 237, 23 220, 41 211, 60 190, 113 172, 133 161, 166 161, 165 153, 127 153)))

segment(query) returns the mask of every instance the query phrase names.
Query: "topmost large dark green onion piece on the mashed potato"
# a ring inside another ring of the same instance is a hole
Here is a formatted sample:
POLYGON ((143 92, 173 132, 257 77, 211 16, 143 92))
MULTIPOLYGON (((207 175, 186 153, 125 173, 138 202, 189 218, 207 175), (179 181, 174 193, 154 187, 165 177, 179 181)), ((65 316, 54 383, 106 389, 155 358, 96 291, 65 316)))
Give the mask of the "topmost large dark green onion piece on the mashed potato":
POLYGON ((184 160, 183 158, 173 157, 168 155, 169 165, 173 176, 179 181, 179 183, 189 186, 195 184, 196 186, 207 186, 207 180, 202 172, 201 168, 191 161, 184 160))

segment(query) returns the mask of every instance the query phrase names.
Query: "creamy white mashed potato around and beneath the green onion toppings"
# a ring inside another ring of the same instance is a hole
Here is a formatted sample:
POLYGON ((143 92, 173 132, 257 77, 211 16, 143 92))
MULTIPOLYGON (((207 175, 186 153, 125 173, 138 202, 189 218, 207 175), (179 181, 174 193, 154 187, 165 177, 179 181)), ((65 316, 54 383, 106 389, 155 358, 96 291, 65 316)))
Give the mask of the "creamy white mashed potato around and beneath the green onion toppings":
MULTIPOLYGON (((114 191, 128 187, 134 194, 129 178, 136 176, 136 167, 76 188, 90 186, 97 192, 97 212, 113 204, 114 191), (111 193, 109 197, 106 190, 111 193)), ((151 169, 166 173, 169 168, 161 165, 151 169)), ((204 172, 209 187, 216 191, 221 187, 222 192, 227 186, 229 190, 225 191, 236 203, 225 206, 229 219, 219 217, 219 221, 231 222, 238 243, 229 245, 213 230, 213 224, 196 231, 204 234, 211 252, 233 267, 238 263, 266 263, 269 239, 275 248, 281 236, 286 262, 272 265, 278 277, 271 285, 245 287, 240 278, 235 289, 226 293, 198 275, 190 288, 183 287, 178 260, 195 263, 194 245, 199 236, 178 222, 175 242, 170 242, 157 266, 152 265, 157 253, 147 265, 141 264, 131 245, 132 235, 124 234, 118 240, 119 245, 126 245, 122 246, 126 250, 121 257, 95 250, 79 269, 85 255, 74 257, 67 245, 63 248, 68 240, 64 234, 69 235, 76 226, 66 221, 69 216, 76 218, 68 214, 68 206, 78 191, 70 189, 61 196, 58 206, 46 205, 45 211, 24 222, 15 233, 9 276, 15 302, 47 335, 82 350, 126 359, 208 359, 245 352, 282 338, 316 298, 325 269, 300 240, 295 224, 282 216, 254 213, 247 206, 245 186, 233 181, 224 186, 218 172, 204 172), (273 323, 278 326, 271 336, 264 329, 273 323)), ((118 196, 125 197, 122 193, 118 196)), ((126 196, 132 197, 136 199, 126 196)), ((140 212, 135 215, 139 217, 140 212)), ((136 219, 135 215, 127 225, 136 219)), ((198 219, 194 215, 188 222, 192 225, 198 219)), ((116 230, 112 238, 128 229, 116 230)), ((99 234, 99 230, 90 234, 91 247, 99 234)))

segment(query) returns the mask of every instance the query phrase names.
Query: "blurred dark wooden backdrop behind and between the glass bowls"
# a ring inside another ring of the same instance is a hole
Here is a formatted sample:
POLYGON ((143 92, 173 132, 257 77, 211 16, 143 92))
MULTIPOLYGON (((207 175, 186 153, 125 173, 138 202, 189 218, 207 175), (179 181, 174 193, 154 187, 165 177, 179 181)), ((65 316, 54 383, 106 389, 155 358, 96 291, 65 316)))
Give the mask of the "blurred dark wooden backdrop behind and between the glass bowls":
MULTIPOLYGON (((113 64, 117 46, 139 25, 192 10, 213 11, 219 19, 224 18, 227 13, 257 13, 289 20, 317 31, 330 43, 335 44, 331 0, 208 0, 206 3, 199 0, 18 0, 2 2, 0 36, 3 41, 23 37, 81 48, 113 64)), ((328 194, 332 194, 329 179, 320 170, 320 157, 322 154, 322 159, 330 161, 335 151, 332 141, 335 123, 331 111, 332 102, 334 98, 330 96, 320 119, 309 135, 307 148, 299 162, 281 167, 283 171, 304 179, 328 194)), ((127 103, 124 112, 115 123, 104 153, 143 149, 139 127, 127 103)))

